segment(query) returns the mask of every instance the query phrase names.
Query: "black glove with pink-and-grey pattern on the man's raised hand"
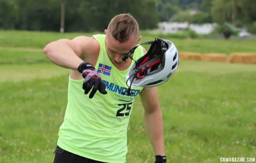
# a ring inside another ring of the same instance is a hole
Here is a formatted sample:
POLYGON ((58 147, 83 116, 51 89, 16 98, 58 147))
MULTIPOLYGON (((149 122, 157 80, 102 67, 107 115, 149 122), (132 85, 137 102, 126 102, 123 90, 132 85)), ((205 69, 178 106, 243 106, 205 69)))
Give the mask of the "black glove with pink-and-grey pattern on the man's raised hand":
POLYGON ((82 73, 84 78, 84 94, 87 95, 91 88, 93 89, 89 95, 89 98, 93 98, 97 90, 99 90, 99 92, 103 95, 107 94, 105 84, 93 65, 89 64, 88 62, 83 62, 78 66, 77 70, 82 73))

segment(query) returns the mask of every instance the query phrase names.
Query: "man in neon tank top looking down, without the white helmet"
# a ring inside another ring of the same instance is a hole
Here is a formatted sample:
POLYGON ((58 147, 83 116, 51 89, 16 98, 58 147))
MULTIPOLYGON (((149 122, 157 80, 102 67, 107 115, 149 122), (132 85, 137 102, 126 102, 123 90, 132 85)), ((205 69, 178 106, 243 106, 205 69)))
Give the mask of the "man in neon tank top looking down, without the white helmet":
MULTIPOLYGON (((140 39, 137 21, 130 14, 119 14, 112 18, 105 35, 60 39, 44 48, 49 60, 70 69, 68 104, 54 163, 125 163, 127 126, 137 95, 156 162, 165 162, 157 88, 136 87, 132 95, 123 94, 134 61, 122 58, 140 39)), ((144 54, 146 50, 139 46, 133 59, 144 54)))

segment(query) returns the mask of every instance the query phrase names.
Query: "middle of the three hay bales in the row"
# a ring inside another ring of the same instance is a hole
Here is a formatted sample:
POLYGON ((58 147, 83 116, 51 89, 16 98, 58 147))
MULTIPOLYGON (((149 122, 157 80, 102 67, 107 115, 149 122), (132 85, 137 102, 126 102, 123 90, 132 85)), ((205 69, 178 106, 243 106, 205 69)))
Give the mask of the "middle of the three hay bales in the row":
POLYGON ((227 62, 228 58, 223 53, 205 53, 201 60, 204 62, 227 62))

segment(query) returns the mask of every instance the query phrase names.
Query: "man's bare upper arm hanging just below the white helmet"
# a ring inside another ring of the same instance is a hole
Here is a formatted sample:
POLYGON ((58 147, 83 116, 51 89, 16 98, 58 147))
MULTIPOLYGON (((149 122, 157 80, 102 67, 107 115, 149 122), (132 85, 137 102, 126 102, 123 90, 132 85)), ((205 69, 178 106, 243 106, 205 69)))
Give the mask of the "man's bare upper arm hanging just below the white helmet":
POLYGON ((146 113, 160 109, 157 87, 145 87, 140 93, 141 103, 146 113))

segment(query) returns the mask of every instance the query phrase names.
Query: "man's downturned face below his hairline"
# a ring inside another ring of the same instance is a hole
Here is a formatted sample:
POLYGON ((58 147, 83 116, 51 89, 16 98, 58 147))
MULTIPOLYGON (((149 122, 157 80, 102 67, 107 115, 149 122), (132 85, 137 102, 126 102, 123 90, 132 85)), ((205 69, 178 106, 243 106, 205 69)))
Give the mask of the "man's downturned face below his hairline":
POLYGON ((131 37, 130 40, 128 40, 125 43, 120 43, 119 41, 115 40, 115 38, 112 36, 111 33, 106 34, 106 51, 109 55, 109 58, 111 59, 112 63, 114 65, 123 65, 125 62, 122 60, 122 58, 125 56, 125 54, 129 53, 129 51, 137 46, 139 43, 140 37, 135 38, 131 37))

